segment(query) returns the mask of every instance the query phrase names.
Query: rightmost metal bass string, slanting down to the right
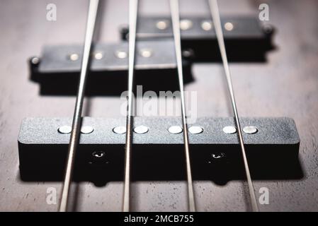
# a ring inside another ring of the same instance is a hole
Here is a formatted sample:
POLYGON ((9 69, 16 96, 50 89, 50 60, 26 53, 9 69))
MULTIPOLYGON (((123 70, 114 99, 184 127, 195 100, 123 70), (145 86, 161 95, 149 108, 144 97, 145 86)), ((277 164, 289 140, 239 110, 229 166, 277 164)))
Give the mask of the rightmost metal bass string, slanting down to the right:
POLYGON ((244 168, 245 168, 245 172, 246 172, 247 183, 249 185, 249 196, 250 196, 250 200, 251 200, 251 207, 252 207, 252 210, 254 212, 258 212, 259 207, 257 206, 256 196, 255 196, 255 192, 254 192, 254 186, 253 186, 253 182, 251 180, 251 174, 249 172, 249 164, 248 164, 247 158, 246 158, 246 152, 245 152, 245 148, 244 148, 244 140, 243 140, 243 136, 242 136, 242 129, 241 129, 241 125, 239 122, 239 114, 237 112, 237 104, 235 102, 235 97, 234 97, 232 78, 231 78, 231 73, 229 71, 229 63, 227 61, 227 52, 225 49, 225 42, 224 42, 224 37, 223 37, 223 32, 222 32, 222 25, 221 25, 221 20, 220 20, 219 8, 217 6, 217 0, 209 0, 209 5, 210 5, 210 13, 212 15, 213 23, 215 26, 215 32, 217 34, 217 42, 219 43, 220 52, 221 52, 222 61, 223 61, 223 66, 225 69, 225 76, 227 78, 227 86, 229 89, 229 95, 231 97, 235 124, 237 126, 237 131, 238 131, 238 135, 239 135, 239 144, 240 144, 241 150, 242 150, 244 168))

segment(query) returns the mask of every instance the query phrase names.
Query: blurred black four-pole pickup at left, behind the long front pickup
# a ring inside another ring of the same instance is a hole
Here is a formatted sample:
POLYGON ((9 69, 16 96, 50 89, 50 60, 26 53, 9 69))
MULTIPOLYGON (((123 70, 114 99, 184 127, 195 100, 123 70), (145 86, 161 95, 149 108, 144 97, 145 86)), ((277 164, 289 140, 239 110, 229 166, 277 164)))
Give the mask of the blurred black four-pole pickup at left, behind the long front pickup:
MULTIPOLYGON (((178 90, 172 40, 140 41, 136 49, 135 84, 143 90, 178 90)), ((46 46, 42 57, 30 59, 31 80, 42 95, 75 95, 81 69, 81 45, 46 46)), ((120 95, 127 90, 127 43, 96 44, 86 95, 120 95)), ((183 61, 184 82, 193 80, 191 65, 183 61)))

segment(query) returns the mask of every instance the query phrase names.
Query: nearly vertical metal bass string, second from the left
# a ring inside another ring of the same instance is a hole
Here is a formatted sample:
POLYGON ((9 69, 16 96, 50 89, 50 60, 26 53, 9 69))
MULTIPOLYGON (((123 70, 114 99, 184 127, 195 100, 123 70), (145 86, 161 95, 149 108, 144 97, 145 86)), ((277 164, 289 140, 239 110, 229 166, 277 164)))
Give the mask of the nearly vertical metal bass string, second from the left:
POLYGON ((126 142, 125 142, 125 179, 123 194, 123 212, 130 210, 130 160, 132 150, 132 124, 133 124, 133 97, 132 85, 135 69, 135 44, 137 28, 138 0, 129 1, 129 59, 128 59, 128 106, 126 118, 126 142))

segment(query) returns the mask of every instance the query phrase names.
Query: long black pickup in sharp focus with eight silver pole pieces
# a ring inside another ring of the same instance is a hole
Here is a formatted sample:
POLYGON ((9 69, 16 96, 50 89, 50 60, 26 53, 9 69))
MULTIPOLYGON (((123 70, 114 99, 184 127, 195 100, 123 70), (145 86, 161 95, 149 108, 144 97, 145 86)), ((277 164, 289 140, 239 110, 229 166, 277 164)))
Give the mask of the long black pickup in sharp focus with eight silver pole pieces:
MULTIPOLYGON (((254 179, 302 177, 298 161, 300 138, 293 119, 242 118, 241 121, 242 128, 254 126, 244 128, 243 133, 254 179)), ((71 124, 69 118, 23 120, 18 136, 21 179, 62 179, 69 144, 67 126, 71 124)), ((233 118, 208 117, 188 125, 194 179, 220 183, 245 179, 237 133, 232 133, 234 131, 229 127, 225 129, 225 126, 233 125, 233 118)), ((84 133, 76 153, 76 180, 103 184, 123 179, 125 127, 118 126, 125 126, 125 118, 84 117, 84 133)), ((133 133, 133 180, 186 179, 183 134, 171 126, 181 126, 181 118, 134 118, 134 128, 139 133, 133 133)))

